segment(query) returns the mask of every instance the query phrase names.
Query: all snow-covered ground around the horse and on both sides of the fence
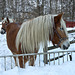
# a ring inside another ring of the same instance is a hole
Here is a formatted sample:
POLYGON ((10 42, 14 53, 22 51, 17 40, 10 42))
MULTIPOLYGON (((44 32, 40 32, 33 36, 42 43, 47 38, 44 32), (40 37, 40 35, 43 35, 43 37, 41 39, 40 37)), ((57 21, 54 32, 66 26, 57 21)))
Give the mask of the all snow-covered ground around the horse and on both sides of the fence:
MULTIPOLYGON (((75 29, 75 28, 67 28, 68 30, 75 29)), ((75 34, 75 33, 73 33, 75 34)), ((75 35, 69 34, 69 40, 73 40, 72 38, 75 35)), ((50 44, 52 45, 52 44, 50 44)), ((41 51, 42 48, 40 47, 39 52, 41 51)), ((60 48, 54 49, 56 50, 61 50, 60 48)), ((68 50, 75 50, 75 44, 71 44, 68 50)), ((0 56, 2 55, 12 55, 11 51, 7 47, 6 43, 6 34, 1 35, 0 34, 0 56)), ((57 65, 57 61, 55 61, 56 65, 53 65, 54 62, 51 62, 51 65, 46 65, 43 66, 43 58, 41 56, 40 58, 40 67, 38 66, 38 60, 39 58, 37 57, 36 62, 35 62, 35 67, 31 66, 26 66, 25 69, 15 67, 14 65, 14 59, 12 60, 13 63, 13 69, 11 69, 11 60, 10 58, 6 59, 6 69, 7 71, 4 71, 4 58, 0 58, 0 75, 75 75, 75 53, 73 55, 73 61, 67 61, 65 56, 65 62, 63 63, 62 60, 60 59, 60 65, 57 65)))

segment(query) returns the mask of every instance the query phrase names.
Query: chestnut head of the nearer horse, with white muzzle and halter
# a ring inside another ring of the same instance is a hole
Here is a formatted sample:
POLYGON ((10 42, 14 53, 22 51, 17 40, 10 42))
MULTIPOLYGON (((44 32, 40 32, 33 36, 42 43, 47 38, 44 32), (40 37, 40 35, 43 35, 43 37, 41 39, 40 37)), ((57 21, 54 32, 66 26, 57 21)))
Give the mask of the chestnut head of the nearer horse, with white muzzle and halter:
POLYGON ((61 49, 68 49, 70 42, 68 40, 68 33, 66 30, 66 25, 62 19, 62 14, 54 16, 53 32, 54 36, 52 38, 52 43, 59 46, 61 49))

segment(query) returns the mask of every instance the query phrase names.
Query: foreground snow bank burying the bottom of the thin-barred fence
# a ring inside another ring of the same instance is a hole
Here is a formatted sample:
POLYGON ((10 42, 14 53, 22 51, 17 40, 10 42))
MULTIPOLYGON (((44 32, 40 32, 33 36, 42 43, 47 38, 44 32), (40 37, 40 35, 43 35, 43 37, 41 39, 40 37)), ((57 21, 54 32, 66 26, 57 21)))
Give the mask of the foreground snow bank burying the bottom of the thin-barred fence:
POLYGON ((0 72, 0 75, 75 75, 75 61, 66 62, 62 65, 45 66, 45 67, 27 67, 0 72))

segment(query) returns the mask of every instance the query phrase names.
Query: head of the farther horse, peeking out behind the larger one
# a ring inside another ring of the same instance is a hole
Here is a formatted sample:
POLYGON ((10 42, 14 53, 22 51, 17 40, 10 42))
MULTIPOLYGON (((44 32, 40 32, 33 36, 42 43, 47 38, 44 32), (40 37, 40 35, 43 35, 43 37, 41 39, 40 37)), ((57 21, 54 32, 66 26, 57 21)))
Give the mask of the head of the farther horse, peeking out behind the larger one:
POLYGON ((9 23, 12 23, 12 22, 14 22, 13 19, 9 19, 8 17, 7 17, 7 18, 2 18, 1 34, 5 34, 5 33, 6 33, 7 25, 8 25, 9 23))

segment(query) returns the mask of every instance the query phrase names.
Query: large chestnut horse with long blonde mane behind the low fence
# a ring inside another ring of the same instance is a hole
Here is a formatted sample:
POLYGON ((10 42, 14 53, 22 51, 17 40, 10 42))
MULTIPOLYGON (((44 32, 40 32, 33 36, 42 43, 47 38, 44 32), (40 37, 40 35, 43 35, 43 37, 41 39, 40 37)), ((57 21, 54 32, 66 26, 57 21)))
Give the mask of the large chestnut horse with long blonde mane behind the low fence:
MULTIPOLYGON (((8 23, 2 23, 2 31, 5 31, 3 25, 7 26, 6 37, 8 48, 13 54, 38 53, 40 43, 45 48, 47 47, 47 42, 52 41, 53 45, 57 45, 64 50, 68 49, 70 42, 62 15, 63 13, 39 16, 23 22, 21 26, 15 22, 10 23, 10 20, 7 18, 8 23)), ((16 58, 14 57, 14 59, 17 65, 16 58)), ((20 56, 18 59, 20 67, 23 68, 23 57, 20 56)), ((28 59, 28 57, 24 56, 24 64, 28 59)), ((30 56, 29 65, 34 65, 33 56, 30 56)))

